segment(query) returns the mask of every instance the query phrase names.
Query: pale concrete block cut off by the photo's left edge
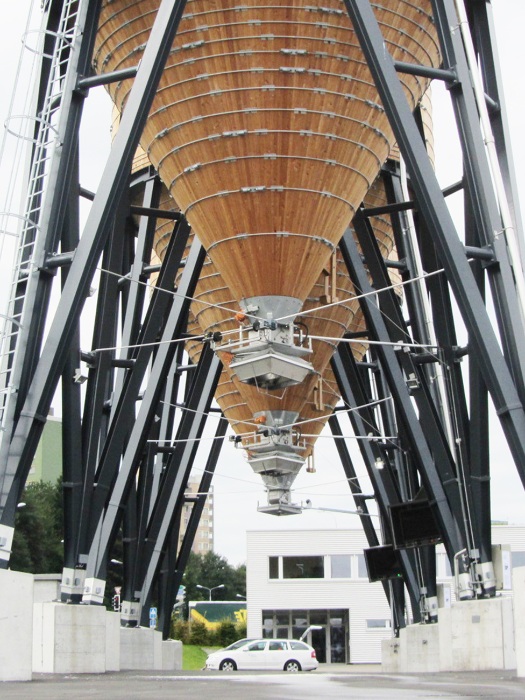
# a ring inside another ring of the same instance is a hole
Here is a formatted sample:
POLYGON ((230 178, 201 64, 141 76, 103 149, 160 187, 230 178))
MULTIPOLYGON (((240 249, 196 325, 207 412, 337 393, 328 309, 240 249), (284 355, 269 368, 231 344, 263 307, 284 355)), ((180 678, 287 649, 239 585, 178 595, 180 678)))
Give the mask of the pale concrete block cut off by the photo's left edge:
POLYGON ((33 576, 0 569, 0 681, 33 674, 33 576))

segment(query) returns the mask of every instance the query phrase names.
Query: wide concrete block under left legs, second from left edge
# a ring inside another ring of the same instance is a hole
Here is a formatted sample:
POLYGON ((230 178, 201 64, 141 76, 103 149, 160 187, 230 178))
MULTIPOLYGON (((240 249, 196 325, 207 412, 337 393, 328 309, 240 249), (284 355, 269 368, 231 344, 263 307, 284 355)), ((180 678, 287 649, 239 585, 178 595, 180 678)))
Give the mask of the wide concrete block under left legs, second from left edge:
POLYGON ((120 619, 116 613, 99 606, 44 602, 35 603, 33 619, 35 672, 119 670, 120 619))

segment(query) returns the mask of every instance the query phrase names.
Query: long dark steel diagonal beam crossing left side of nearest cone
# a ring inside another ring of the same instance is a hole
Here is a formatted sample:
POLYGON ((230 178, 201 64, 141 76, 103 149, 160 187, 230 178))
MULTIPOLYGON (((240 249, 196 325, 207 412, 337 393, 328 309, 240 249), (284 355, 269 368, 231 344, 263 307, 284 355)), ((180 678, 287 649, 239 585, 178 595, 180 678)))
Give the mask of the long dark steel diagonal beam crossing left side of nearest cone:
MULTIPOLYGON (((48 339, 35 366, 31 386, 20 410, 20 418, 14 427, 12 439, 7 448, 7 458, 5 462, 2 461, 5 468, 1 475, 1 524, 7 529, 13 527, 18 485, 25 483, 29 472, 51 400, 71 346, 77 319, 88 295, 99 256, 105 246, 108 224, 126 188, 130 164, 173 44, 184 5, 185 0, 175 2, 163 0, 158 10, 99 190, 75 251, 48 339)), ((90 9, 95 6, 98 8, 98 2, 89 4, 90 9)), ((93 32, 95 29, 96 22, 93 32)), ((76 130, 74 133, 77 133, 76 130)), ((66 191, 63 187, 64 182, 66 181, 59 183, 55 192, 58 197, 57 202, 66 191)), ((58 210, 62 210, 60 205, 58 210)), ((46 230, 46 224, 50 225, 49 222, 44 222, 44 230, 46 230)), ((61 227, 55 226, 55 228, 60 230, 61 227)), ((52 229, 53 226, 50 230, 52 229)), ((2 552, 0 565, 7 566, 8 558, 9 548, 7 552, 2 552)))

